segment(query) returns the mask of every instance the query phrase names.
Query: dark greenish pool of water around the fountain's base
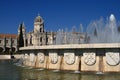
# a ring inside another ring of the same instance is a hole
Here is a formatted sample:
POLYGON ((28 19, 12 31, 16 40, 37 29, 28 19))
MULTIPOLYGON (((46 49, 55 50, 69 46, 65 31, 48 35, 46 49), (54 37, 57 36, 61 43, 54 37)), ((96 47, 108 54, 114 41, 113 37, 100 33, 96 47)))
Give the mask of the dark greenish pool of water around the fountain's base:
POLYGON ((20 67, 12 60, 0 60, 0 80, 120 80, 120 73, 79 73, 20 67))

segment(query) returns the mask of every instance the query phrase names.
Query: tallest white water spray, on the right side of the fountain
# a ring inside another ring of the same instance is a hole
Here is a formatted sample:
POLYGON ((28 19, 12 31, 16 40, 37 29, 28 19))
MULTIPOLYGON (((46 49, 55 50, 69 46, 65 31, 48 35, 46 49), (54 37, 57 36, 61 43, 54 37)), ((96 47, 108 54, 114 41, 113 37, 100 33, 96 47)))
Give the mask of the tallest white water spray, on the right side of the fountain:
POLYGON ((102 18, 98 21, 91 22, 87 28, 87 35, 90 37, 90 43, 120 42, 120 34, 115 16, 111 14, 106 22, 102 18))

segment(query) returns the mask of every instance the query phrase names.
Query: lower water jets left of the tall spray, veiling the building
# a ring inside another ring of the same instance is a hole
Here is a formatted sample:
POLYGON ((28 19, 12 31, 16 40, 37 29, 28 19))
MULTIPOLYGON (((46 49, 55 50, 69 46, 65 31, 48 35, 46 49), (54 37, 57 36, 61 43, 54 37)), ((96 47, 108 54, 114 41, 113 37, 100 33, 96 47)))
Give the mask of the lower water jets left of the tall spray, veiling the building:
POLYGON ((83 40, 84 35, 82 33, 83 30, 81 25, 80 25, 80 31, 81 32, 76 31, 75 28, 73 28, 72 31, 59 30, 56 34, 56 40, 54 41, 54 43, 56 45, 84 43, 83 40))

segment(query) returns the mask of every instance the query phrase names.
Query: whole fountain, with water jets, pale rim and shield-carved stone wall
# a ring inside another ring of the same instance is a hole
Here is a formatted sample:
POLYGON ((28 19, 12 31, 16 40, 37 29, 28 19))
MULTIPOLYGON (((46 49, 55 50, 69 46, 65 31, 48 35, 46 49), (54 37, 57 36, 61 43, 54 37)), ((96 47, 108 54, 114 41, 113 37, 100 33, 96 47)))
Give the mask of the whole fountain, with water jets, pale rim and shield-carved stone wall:
POLYGON ((111 14, 107 21, 101 18, 91 22, 87 34, 59 30, 53 45, 20 48, 25 54, 23 64, 54 71, 72 70, 75 73, 120 72, 120 35, 117 26, 115 16, 111 14))

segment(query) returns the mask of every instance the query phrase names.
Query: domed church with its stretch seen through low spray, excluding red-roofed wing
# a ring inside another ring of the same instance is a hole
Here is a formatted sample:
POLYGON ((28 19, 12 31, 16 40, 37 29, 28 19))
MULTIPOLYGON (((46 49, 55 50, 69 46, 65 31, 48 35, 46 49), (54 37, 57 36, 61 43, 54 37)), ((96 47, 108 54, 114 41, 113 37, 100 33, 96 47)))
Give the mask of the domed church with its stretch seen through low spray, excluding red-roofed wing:
MULTIPOLYGON (((37 16, 34 20, 34 30, 26 33, 25 25, 22 25, 24 46, 42 46, 52 44, 80 44, 85 41, 85 34, 80 32, 46 32, 44 29, 44 20, 37 16)), ((18 29, 18 34, 20 29, 18 29)))

